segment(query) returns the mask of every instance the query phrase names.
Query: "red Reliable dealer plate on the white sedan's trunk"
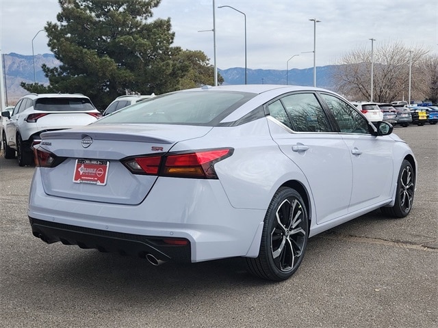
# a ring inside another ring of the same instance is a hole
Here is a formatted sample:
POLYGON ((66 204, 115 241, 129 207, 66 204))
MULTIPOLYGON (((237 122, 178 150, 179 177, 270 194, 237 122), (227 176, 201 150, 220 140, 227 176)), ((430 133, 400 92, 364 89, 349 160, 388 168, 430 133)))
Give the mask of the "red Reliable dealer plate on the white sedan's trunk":
POLYGON ((105 186, 107 183, 107 172, 109 166, 109 161, 77 159, 75 173, 73 174, 73 182, 105 186))

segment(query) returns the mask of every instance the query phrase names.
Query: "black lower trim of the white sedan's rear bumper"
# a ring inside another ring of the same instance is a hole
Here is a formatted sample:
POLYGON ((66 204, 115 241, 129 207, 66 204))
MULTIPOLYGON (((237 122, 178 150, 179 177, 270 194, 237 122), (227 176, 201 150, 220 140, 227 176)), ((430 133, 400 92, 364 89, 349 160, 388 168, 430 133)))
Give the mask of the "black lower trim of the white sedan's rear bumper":
MULTIPOLYGON (((190 241, 187 245, 166 245, 163 238, 82 228, 29 217, 32 234, 46 243, 61 242, 83 249, 146 258, 152 254, 163 261, 191 262, 190 241)), ((167 238, 169 239, 169 238, 167 238)))

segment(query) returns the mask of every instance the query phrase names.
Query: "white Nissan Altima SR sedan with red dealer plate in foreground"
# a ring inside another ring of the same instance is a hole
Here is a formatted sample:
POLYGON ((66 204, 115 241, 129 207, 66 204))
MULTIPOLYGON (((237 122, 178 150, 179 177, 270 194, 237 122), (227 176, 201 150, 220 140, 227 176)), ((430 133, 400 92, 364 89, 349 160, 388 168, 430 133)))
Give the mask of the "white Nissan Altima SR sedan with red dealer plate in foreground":
POLYGON ((309 237, 377 208, 408 215, 417 177, 390 124, 313 87, 205 86, 41 136, 34 236, 155 265, 240 256, 276 281, 309 237))

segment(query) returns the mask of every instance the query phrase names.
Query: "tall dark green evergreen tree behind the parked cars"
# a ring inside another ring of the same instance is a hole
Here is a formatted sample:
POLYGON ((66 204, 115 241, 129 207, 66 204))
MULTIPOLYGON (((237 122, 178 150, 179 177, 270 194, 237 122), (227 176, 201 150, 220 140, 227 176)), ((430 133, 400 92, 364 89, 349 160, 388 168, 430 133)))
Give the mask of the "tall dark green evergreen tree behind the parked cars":
POLYGON ((44 28, 61 65, 42 66, 49 85, 22 83, 30 91, 82 93, 99 109, 127 93, 179 89, 190 69, 171 46, 170 18, 152 20, 161 0, 58 0, 57 22, 44 28))

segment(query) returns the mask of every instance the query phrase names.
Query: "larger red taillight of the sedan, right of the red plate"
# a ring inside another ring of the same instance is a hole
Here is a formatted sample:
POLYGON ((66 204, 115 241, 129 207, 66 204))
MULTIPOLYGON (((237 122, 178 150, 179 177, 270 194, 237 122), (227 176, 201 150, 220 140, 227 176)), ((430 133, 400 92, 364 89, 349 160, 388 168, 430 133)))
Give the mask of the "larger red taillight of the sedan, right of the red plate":
POLYGON ((233 148, 178 152, 163 156, 138 156, 122 163, 133 174, 175 178, 217 179, 214 165, 233 154, 233 148))

